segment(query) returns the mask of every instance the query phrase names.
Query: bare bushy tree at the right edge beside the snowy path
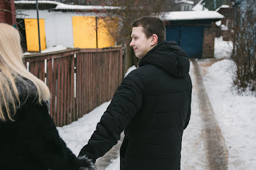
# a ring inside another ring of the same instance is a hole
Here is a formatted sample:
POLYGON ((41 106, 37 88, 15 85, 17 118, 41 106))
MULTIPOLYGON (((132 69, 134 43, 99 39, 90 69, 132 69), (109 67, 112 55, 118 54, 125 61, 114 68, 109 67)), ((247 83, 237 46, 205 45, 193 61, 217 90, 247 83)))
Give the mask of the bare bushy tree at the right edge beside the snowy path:
POLYGON ((256 1, 247 0, 236 10, 235 26, 232 28, 234 44, 232 59, 237 70, 234 85, 239 91, 256 90, 256 1))

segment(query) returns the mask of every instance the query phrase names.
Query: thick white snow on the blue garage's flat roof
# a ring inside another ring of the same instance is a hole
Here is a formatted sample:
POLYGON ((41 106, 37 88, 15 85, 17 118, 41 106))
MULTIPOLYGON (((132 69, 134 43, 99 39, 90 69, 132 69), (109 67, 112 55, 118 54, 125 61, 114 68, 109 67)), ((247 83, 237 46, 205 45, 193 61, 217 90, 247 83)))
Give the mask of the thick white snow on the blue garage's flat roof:
POLYGON ((171 11, 164 13, 164 19, 168 21, 222 18, 224 16, 216 11, 171 11))

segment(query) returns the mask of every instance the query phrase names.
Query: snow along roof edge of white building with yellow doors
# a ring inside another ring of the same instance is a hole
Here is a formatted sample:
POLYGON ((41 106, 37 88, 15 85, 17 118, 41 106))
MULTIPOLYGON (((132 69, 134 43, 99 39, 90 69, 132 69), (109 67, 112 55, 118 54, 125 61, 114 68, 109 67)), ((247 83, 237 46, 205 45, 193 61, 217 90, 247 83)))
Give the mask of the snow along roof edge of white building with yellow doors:
MULTIPOLYGON (((14 1, 17 4, 36 4, 36 1, 14 1)), ((38 1, 38 4, 55 4, 55 10, 107 10, 118 9, 115 6, 94 6, 94 5, 67 5, 55 1, 38 1)))

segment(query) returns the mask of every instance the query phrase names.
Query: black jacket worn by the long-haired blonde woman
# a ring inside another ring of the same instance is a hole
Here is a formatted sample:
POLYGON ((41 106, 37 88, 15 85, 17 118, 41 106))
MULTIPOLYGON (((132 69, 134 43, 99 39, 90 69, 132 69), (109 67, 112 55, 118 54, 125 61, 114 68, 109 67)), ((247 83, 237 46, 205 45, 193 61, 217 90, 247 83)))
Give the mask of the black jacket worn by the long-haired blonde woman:
POLYGON ((25 84, 17 82, 21 106, 15 113, 15 121, 0 121, 0 169, 76 170, 89 167, 89 161, 78 160, 66 147, 46 102, 37 103, 36 88, 28 82, 29 92, 25 84))

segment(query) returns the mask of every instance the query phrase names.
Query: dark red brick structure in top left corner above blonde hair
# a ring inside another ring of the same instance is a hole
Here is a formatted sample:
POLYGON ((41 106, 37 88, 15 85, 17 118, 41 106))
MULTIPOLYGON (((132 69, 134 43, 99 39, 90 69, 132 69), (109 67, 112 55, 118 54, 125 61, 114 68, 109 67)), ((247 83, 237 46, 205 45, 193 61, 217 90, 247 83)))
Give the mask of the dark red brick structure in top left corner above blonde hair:
POLYGON ((14 0, 0 0, 0 22, 16 26, 14 0))

